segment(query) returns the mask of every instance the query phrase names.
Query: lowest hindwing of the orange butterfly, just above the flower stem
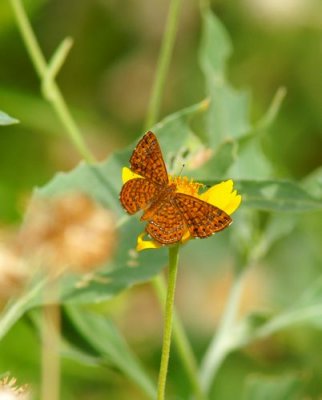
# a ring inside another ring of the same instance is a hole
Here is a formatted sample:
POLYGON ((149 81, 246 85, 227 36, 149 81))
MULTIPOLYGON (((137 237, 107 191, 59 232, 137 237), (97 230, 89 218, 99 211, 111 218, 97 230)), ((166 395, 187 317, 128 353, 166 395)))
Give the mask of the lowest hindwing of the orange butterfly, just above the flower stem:
POLYGON ((156 211, 146 226, 148 234, 161 244, 179 242, 186 229, 180 211, 170 201, 156 211))

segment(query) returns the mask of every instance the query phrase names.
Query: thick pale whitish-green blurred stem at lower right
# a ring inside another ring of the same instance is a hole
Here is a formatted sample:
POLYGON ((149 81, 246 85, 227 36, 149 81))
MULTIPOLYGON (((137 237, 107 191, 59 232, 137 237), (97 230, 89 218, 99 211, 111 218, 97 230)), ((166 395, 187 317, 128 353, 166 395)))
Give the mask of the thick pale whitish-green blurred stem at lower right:
POLYGON ((245 272, 240 272, 236 276, 216 335, 210 343, 201 363, 200 381, 205 393, 209 392, 216 373, 234 346, 234 324, 240 304, 244 278, 245 272))

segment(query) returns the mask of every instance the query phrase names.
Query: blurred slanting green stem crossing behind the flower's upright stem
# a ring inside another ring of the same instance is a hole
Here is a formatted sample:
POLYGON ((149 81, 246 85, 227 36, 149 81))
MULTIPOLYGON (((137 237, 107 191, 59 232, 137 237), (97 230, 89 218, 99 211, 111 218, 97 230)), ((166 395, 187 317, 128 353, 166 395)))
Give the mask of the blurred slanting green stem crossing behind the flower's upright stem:
MULTIPOLYGON (((161 304, 165 304, 166 286, 163 278, 161 276, 155 277, 153 280, 153 286, 158 295, 159 302, 161 304)), ((185 330, 175 310, 173 314, 173 340, 181 357, 183 367, 185 368, 188 378, 190 380, 195 398, 197 400, 205 400, 205 396, 202 393, 202 389, 198 381, 196 359, 191 349, 185 330)))

